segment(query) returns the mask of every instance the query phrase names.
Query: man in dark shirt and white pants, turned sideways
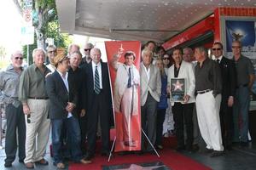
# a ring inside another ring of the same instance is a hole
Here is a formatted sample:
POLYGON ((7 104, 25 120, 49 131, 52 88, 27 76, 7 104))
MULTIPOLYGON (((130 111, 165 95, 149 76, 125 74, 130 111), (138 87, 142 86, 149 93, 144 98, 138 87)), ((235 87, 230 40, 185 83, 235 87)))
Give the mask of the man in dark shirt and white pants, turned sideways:
POLYGON ((221 101, 221 72, 217 62, 208 58, 207 48, 195 48, 195 106, 202 138, 211 157, 224 154, 219 108, 221 101))

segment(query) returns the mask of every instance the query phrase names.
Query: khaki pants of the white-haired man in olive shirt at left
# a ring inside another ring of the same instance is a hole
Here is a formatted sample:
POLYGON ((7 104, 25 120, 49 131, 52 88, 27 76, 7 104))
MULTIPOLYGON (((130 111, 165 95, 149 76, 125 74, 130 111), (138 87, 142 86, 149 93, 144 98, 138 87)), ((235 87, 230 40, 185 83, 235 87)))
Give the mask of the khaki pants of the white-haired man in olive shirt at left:
POLYGON ((49 139, 49 99, 28 99, 30 117, 26 119, 26 158, 25 163, 44 158, 49 139), (28 121, 30 120, 30 121, 28 121))

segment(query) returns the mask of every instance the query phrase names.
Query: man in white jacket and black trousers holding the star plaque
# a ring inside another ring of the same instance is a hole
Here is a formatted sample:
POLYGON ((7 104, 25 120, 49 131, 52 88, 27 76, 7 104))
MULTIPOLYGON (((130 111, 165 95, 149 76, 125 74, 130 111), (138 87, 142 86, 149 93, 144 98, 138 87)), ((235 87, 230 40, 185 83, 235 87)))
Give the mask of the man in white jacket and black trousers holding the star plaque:
MULTIPOLYGON (((172 65, 168 70, 168 87, 170 94, 172 96, 171 88, 176 84, 171 84, 172 78, 182 78, 185 84, 183 88, 185 94, 182 101, 171 99, 172 112, 174 118, 174 126, 176 128, 177 136, 177 150, 192 150, 193 144, 193 107, 195 103, 195 73, 194 66, 183 60, 182 50, 176 48, 173 51, 172 59, 174 60, 174 65, 172 65), (185 122, 183 122, 183 120, 185 122), (184 143, 183 127, 185 123, 187 140, 186 148, 184 143)), ((176 88, 176 87, 175 87, 176 88)))

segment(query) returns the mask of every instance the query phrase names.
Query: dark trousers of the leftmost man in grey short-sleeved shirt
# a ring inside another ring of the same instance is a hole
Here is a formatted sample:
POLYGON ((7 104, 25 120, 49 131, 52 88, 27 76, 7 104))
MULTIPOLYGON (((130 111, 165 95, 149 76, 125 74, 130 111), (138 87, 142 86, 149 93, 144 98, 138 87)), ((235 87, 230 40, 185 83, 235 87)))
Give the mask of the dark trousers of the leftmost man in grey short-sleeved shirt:
POLYGON ((26 123, 22 105, 16 108, 9 104, 6 107, 6 139, 5 139, 5 162, 15 161, 17 151, 16 129, 18 128, 19 158, 25 158, 26 123))

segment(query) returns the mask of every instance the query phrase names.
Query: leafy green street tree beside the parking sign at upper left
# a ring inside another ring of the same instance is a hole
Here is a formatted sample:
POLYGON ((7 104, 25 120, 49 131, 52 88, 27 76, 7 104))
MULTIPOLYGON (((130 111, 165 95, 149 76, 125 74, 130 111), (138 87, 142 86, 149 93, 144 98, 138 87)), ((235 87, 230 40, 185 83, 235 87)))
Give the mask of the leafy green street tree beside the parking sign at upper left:
MULTIPOLYGON (((22 15, 23 0, 13 0, 16 8, 22 15)), ((29 45, 29 54, 32 56, 34 48, 46 48, 47 37, 55 39, 57 47, 66 48, 71 42, 67 34, 60 32, 55 0, 33 0, 33 26, 35 27, 35 43, 29 45)), ((27 47, 23 47, 24 56, 27 54, 27 47)), ((32 57, 31 57, 32 59, 32 57)), ((32 60, 28 61, 32 63, 32 60)))

